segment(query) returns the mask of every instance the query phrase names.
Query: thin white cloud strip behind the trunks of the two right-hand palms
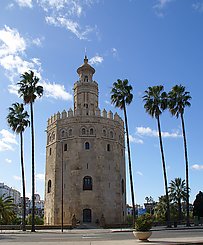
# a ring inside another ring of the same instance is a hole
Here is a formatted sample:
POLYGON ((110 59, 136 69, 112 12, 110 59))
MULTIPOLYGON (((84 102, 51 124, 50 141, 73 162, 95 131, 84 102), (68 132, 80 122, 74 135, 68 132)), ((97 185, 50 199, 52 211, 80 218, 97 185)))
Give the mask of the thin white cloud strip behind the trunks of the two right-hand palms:
MULTIPOLYGON (((149 127, 136 127, 136 135, 138 136, 150 136, 150 137, 159 137, 158 131, 151 129, 149 127)), ((173 133, 161 132, 163 138, 179 138, 182 135, 177 131, 173 133)))

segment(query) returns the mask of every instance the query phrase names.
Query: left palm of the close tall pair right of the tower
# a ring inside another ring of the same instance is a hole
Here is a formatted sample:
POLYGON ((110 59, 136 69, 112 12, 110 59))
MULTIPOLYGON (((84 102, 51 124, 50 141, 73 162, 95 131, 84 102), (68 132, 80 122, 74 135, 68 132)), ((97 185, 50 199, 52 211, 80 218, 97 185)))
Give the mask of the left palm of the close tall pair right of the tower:
POLYGON ((160 125, 160 115, 167 108, 167 93, 163 91, 164 87, 153 86, 149 87, 145 91, 143 96, 143 101, 145 102, 144 108, 146 112, 157 119, 158 123, 158 133, 159 133, 159 143, 162 157, 163 173, 164 173, 164 185, 167 201, 167 226, 170 226, 170 205, 169 205, 169 196, 168 196, 168 184, 167 184, 167 175, 166 175, 166 164, 164 158, 164 149, 161 136, 161 125, 160 125))

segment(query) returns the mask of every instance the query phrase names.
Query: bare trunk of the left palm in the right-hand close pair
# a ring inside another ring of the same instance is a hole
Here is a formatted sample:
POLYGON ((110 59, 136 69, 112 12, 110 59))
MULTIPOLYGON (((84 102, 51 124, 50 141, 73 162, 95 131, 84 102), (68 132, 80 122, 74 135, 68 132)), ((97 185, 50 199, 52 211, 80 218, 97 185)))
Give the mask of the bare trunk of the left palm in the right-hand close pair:
POLYGON ((168 196, 168 184, 167 184, 167 175, 166 175, 166 164, 165 164, 165 158, 164 158, 164 149, 163 149, 163 143, 162 143, 162 137, 161 137, 161 125, 159 116, 157 117, 158 122, 158 132, 159 132, 159 143, 160 143, 160 150, 161 150, 161 158, 162 158, 162 164, 163 164, 163 172, 164 172, 164 185, 165 185, 165 192, 166 192, 166 202, 167 202, 167 226, 171 227, 170 222, 170 205, 169 205, 169 196, 168 196))

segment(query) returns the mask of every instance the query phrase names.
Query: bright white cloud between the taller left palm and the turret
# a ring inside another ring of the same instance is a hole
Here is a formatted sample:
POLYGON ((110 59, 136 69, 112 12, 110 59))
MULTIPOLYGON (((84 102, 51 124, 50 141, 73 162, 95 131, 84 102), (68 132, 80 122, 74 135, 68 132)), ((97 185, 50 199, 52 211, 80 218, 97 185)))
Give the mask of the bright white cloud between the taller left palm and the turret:
POLYGON ((45 81, 41 85, 44 88, 45 97, 72 101, 72 94, 65 91, 64 85, 45 81))

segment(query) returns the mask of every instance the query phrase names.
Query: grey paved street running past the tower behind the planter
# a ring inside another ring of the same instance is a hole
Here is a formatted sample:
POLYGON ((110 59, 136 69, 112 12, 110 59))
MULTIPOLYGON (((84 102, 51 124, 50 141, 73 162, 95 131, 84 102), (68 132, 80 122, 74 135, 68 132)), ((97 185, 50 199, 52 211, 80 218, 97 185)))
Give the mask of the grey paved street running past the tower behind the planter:
MULTIPOLYGON (((7 231, 0 233, 0 244, 9 245, 136 245, 140 244, 130 231, 115 230, 69 230, 37 231, 36 233, 7 231)), ((141 244, 203 244, 203 229, 155 230, 150 242, 141 244)))

